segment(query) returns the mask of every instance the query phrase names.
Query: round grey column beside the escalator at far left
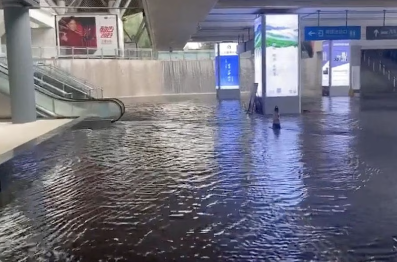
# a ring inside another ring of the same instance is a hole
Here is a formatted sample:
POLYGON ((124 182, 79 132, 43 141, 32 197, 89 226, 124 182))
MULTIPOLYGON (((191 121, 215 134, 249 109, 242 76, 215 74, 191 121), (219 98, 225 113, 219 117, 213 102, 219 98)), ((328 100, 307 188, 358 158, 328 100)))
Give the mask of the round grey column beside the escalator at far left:
POLYGON ((36 121, 29 9, 4 7, 12 123, 36 121))

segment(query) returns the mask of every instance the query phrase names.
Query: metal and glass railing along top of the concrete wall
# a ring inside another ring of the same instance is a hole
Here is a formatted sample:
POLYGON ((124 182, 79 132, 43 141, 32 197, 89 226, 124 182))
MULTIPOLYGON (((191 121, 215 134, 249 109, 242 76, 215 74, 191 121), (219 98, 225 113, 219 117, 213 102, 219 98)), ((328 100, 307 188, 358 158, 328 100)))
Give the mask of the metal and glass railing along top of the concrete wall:
MULTIPOLYGON (((6 55, 6 46, 1 45, 0 55, 6 55)), ((84 59, 139 59, 139 60, 208 60, 214 59, 213 50, 189 50, 174 52, 155 52, 152 49, 126 48, 68 48, 32 47, 34 59, 84 58, 84 59)))

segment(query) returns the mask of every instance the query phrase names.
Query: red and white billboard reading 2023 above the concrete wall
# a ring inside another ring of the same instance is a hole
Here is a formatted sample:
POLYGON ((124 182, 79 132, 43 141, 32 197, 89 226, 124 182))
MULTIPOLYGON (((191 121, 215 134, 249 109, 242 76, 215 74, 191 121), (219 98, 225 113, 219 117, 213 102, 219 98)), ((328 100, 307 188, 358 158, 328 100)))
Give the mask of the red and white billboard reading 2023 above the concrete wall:
POLYGON ((57 15, 60 56, 115 56, 119 48, 116 15, 57 15))

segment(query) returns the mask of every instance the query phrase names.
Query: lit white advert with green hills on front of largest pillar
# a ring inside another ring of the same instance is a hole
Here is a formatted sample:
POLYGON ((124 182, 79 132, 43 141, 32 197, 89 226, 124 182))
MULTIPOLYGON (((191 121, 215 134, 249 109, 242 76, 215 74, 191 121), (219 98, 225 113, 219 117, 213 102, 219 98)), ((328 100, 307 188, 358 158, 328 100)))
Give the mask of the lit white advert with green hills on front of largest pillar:
POLYGON ((298 96, 299 17, 271 14, 266 21, 266 97, 298 96))

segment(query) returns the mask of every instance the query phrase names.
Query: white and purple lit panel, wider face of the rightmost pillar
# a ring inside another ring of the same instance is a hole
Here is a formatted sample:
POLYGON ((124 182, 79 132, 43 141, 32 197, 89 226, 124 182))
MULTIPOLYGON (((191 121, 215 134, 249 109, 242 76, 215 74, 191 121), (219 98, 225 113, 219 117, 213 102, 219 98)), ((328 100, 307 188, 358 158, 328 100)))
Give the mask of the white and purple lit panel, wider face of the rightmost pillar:
POLYGON ((332 41, 331 86, 350 86, 350 43, 332 41))

